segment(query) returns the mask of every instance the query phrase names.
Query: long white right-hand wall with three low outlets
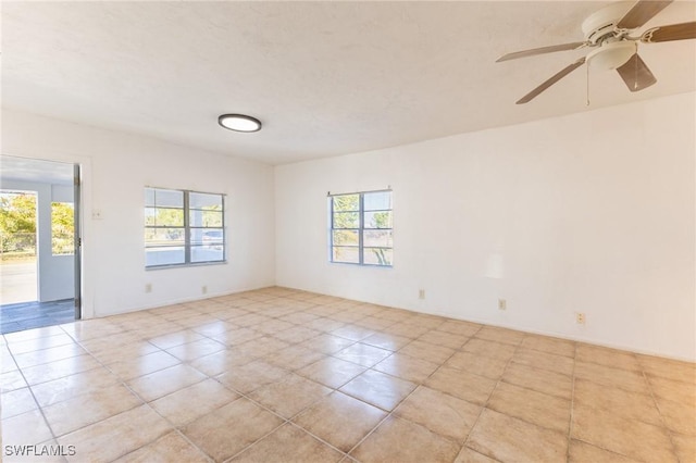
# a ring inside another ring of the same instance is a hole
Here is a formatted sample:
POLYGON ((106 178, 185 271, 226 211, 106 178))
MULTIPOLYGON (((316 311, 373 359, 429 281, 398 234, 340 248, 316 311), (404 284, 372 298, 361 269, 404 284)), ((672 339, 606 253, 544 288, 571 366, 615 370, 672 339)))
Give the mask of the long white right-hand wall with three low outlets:
POLYGON ((696 360, 695 127, 686 93, 279 166, 276 283, 696 360), (326 192, 387 186, 394 268, 327 263, 326 192))

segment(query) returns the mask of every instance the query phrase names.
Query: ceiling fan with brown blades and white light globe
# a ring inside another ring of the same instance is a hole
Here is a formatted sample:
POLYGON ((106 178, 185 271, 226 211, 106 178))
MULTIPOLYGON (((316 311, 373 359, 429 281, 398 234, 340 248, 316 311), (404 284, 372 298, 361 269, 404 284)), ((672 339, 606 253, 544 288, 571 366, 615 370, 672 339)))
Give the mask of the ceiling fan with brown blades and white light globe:
POLYGON ((651 86, 657 79, 647 64, 638 57, 638 42, 657 43, 696 38, 696 22, 652 27, 637 37, 632 37, 630 34, 650 21, 671 2, 672 0, 638 0, 627 12, 626 2, 612 3, 589 15, 583 22, 582 30, 585 35, 585 40, 583 41, 517 51, 498 58, 496 62, 552 53, 555 51, 593 48, 587 55, 545 80, 522 97, 517 104, 529 103, 544 90, 585 63, 604 70, 617 70, 631 91, 639 91, 651 86))

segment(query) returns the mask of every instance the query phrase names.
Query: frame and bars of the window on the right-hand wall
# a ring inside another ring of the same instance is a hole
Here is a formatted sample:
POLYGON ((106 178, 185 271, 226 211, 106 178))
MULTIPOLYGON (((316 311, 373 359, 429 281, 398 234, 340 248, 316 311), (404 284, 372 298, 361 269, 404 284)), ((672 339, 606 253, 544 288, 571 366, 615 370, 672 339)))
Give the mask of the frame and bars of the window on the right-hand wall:
POLYGON ((346 192, 346 193, 332 193, 331 191, 327 193, 328 197, 328 262, 332 264, 348 264, 348 265, 360 265, 360 266, 370 266, 370 267, 381 267, 381 268, 393 268, 394 267, 394 242, 391 242, 390 247, 375 247, 375 246, 365 246, 364 245, 364 234, 370 230, 388 230, 391 233, 391 239, 394 240, 394 198, 393 198, 391 188, 382 189, 382 190, 369 190, 369 191, 355 191, 355 192, 346 192), (364 208, 364 197, 365 195, 371 193, 381 193, 388 192, 389 193, 389 205, 390 209, 384 210, 370 210, 365 211, 364 208), (357 228, 336 228, 335 225, 335 214, 334 211, 334 198, 340 196, 358 196, 358 210, 357 211, 338 211, 349 212, 349 213, 358 213, 358 227, 357 228), (365 227, 365 212, 389 212, 391 214, 391 227, 389 228, 372 228, 365 227), (358 246, 341 246, 334 245, 334 232, 336 230, 348 230, 356 232, 358 234, 358 246), (358 250, 358 262, 344 262, 334 260, 334 249, 335 248, 356 248, 358 250), (365 262, 365 251, 370 249, 389 249, 391 250, 391 260, 388 264, 378 264, 378 263, 370 263, 365 262))

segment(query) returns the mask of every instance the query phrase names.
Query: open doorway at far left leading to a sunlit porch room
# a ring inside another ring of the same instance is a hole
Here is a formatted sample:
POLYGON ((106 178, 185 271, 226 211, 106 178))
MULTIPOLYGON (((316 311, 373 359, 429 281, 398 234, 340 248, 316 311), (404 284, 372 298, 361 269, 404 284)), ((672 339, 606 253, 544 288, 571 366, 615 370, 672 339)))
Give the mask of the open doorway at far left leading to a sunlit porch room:
POLYGON ((79 318, 78 167, 0 162, 0 333, 79 318))

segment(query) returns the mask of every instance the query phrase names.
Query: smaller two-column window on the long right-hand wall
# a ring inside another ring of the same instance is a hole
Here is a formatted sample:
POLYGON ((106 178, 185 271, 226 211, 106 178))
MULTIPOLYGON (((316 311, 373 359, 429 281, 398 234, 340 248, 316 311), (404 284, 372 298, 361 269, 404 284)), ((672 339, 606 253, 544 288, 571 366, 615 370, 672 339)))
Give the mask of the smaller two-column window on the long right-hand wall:
POLYGON ((391 191, 328 197, 331 261, 393 265, 391 191))

